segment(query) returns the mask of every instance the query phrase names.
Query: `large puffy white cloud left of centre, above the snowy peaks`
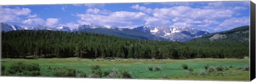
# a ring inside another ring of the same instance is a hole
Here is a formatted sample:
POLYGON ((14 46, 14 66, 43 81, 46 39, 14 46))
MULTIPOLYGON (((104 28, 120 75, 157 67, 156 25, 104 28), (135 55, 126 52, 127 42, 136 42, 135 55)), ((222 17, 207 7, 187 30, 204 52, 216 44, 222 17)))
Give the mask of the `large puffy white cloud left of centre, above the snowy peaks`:
POLYGON ((97 24, 97 25, 110 25, 110 26, 130 26, 133 22, 141 22, 148 17, 147 14, 142 12, 127 12, 118 11, 109 15, 100 14, 77 14, 80 20, 79 24, 97 24))

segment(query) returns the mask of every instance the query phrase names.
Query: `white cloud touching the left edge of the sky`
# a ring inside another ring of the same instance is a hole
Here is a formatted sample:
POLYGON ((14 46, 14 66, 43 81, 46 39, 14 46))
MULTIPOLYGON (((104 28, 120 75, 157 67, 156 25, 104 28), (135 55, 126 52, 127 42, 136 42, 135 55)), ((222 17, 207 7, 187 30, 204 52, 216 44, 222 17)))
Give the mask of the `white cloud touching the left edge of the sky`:
POLYGON ((16 7, 14 9, 2 8, 1 11, 1 22, 18 22, 20 21, 21 15, 29 15, 31 10, 27 8, 16 7))

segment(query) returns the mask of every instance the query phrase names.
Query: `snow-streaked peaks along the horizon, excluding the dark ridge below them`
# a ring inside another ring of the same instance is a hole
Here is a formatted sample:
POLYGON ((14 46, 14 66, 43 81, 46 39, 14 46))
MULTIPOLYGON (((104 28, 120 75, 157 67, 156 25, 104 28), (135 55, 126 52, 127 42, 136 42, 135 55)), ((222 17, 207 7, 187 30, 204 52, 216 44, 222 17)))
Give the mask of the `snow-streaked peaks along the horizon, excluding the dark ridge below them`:
MULTIPOLYGON (((94 24, 83 24, 80 26, 77 26, 75 29, 70 29, 69 27, 66 26, 59 26, 59 27, 53 27, 49 28, 46 26, 41 26, 37 25, 34 27, 26 27, 26 26, 16 26, 12 24, 7 24, 7 23, 1 23, 1 28, 3 31, 12 31, 12 30, 54 30, 54 31, 68 31, 68 32, 73 32, 73 31, 80 31, 85 29, 88 30, 93 30, 97 29, 97 33, 99 32, 99 29, 101 30, 110 30, 110 31, 119 31, 121 32, 127 32, 124 31, 122 28, 118 28, 115 26, 95 26, 94 24), (113 30, 111 30, 113 29, 113 30)), ((107 34, 106 32, 109 32, 109 34, 113 34, 113 32, 110 31, 100 31, 102 34, 107 34)), ((140 31, 140 32, 145 32, 150 35, 154 35, 157 37, 161 37, 164 39, 172 40, 172 41, 179 41, 179 42, 186 42, 188 40, 197 38, 197 37, 202 37, 203 35, 210 34, 207 31, 202 31, 194 28, 172 28, 172 27, 153 27, 153 26, 141 26, 137 28, 130 29, 129 31, 134 30, 134 31, 140 31)), ((92 32, 95 32, 96 30, 93 30, 92 32)), ((139 35, 139 34, 138 34, 139 35)))

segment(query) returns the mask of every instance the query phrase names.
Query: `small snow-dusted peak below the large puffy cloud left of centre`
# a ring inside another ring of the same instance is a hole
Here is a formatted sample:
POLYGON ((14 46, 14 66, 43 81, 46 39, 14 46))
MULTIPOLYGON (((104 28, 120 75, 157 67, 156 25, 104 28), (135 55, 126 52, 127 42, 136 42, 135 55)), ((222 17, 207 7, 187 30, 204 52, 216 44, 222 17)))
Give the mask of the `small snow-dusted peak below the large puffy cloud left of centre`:
POLYGON ((83 25, 80 25, 80 26, 77 26, 75 31, 79 31, 79 30, 82 30, 82 29, 85 29, 85 28, 90 28, 90 29, 95 29, 95 28, 107 28, 107 29, 116 29, 118 27, 115 27, 115 26, 95 26, 94 24, 83 24, 83 25))

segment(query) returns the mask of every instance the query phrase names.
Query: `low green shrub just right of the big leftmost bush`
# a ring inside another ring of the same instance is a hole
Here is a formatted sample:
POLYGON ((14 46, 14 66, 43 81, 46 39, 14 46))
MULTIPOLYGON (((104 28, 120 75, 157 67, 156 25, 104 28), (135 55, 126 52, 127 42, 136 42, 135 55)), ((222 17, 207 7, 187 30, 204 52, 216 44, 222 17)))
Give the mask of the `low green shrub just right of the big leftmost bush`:
POLYGON ((74 68, 56 67, 52 73, 56 77, 76 77, 76 69, 74 68))

